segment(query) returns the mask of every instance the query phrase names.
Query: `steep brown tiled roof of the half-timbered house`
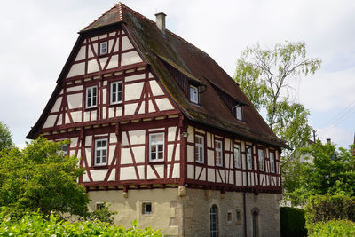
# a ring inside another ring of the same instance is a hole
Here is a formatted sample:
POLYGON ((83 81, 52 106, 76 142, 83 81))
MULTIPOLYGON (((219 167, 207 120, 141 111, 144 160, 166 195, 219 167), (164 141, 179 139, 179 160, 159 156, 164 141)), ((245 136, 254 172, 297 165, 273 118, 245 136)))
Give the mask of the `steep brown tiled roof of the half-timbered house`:
POLYGON ((153 20, 147 19, 124 4, 116 4, 89 26, 83 28, 79 34, 83 36, 98 28, 106 28, 114 24, 122 24, 130 39, 137 45, 141 56, 170 93, 170 97, 190 120, 274 146, 287 147, 264 122, 241 91, 238 83, 235 83, 206 52, 170 30, 162 33, 153 20), (167 63, 169 67, 174 67, 195 83, 204 85, 206 90, 201 93, 201 107, 193 105, 186 98, 171 75, 167 63), (247 105, 243 109, 243 122, 235 119, 218 91, 223 91, 242 105, 247 105))

